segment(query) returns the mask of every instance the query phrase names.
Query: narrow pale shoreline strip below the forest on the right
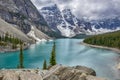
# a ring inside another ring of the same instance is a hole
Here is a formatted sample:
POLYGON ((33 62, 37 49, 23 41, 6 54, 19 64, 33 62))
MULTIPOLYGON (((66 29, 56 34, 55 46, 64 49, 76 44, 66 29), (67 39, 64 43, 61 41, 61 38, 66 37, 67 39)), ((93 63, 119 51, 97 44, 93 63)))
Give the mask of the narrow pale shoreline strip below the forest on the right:
POLYGON ((84 42, 80 42, 80 44, 83 44, 83 45, 89 46, 89 47, 93 47, 93 48, 101 48, 101 49, 115 51, 116 53, 120 53, 120 49, 117 49, 117 48, 112 48, 112 47, 107 47, 107 46, 92 45, 92 44, 87 44, 87 43, 84 43, 84 42))

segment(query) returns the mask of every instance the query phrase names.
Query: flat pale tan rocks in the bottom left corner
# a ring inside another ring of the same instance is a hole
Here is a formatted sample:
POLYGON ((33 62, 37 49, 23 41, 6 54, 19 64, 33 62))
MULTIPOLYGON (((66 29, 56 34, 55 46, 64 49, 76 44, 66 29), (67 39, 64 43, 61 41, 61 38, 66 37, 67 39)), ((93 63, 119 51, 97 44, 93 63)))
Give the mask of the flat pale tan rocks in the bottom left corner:
POLYGON ((2 70, 0 71, 0 80, 43 80, 41 75, 38 75, 32 70, 2 70))

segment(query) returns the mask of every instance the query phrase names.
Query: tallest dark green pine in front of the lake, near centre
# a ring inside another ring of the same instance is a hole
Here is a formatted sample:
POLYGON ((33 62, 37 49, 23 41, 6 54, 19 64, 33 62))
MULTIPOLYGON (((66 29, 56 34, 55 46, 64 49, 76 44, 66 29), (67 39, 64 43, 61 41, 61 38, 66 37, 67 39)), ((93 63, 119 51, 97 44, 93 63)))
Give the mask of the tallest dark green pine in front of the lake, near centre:
POLYGON ((54 42, 54 45, 53 45, 53 48, 52 48, 52 52, 51 52, 51 57, 50 57, 50 66, 54 66, 56 65, 56 52, 55 52, 55 48, 56 48, 56 45, 55 45, 55 42, 54 42))

